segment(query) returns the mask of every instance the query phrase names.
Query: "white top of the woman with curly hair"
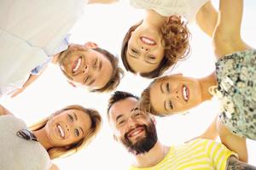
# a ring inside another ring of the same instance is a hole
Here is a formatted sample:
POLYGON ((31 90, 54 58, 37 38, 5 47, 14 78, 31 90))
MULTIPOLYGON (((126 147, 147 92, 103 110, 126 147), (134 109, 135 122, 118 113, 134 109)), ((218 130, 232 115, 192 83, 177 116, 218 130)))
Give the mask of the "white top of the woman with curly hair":
POLYGON ((163 16, 179 14, 191 22, 207 1, 209 0, 130 0, 130 4, 135 8, 153 9, 163 16))

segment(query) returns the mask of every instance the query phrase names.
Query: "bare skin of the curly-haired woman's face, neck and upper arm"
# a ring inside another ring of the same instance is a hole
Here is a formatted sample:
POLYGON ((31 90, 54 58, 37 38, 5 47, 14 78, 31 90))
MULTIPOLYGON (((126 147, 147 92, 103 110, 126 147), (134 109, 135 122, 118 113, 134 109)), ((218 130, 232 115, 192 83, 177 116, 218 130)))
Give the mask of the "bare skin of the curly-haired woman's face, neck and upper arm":
MULTIPOLYGON (((146 9, 146 15, 141 26, 132 32, 128 42, 126 58, 131 69, 138 73, 154 71, 164 57, 163 37, 160 27, 163 26, 167 17, 154 10, 146 9), (143 37, 152 44, 143 41, 143 37)), ((209 37, 217 22, 217 11, 211 1, 205 3, 196 14, 196 22, 209 37)))

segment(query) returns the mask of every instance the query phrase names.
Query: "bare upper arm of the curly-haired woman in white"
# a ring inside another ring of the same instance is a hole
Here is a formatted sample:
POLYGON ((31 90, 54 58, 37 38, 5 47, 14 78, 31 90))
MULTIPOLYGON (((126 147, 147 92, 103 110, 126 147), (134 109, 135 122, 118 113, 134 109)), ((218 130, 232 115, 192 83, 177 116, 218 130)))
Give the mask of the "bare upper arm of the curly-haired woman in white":
POLYGON ((209 37, 212 37, 212 33, 218 20, 218 13, 212 6, 212 2, 208 1, 204 4, 198 13, 196 14, 196 22, 198 26, 204 31, 209 37))

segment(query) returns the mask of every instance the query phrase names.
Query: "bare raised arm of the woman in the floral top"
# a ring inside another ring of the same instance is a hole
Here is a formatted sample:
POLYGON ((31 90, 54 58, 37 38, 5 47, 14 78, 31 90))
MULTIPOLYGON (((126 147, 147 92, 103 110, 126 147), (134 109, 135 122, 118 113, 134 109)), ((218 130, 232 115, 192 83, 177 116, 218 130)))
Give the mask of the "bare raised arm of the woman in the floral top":
POLYGON ((248 48, 241 40, 241 17, 243 0, 220 0, 218 21, 213 32, 213 46, 217 58, 248 48))

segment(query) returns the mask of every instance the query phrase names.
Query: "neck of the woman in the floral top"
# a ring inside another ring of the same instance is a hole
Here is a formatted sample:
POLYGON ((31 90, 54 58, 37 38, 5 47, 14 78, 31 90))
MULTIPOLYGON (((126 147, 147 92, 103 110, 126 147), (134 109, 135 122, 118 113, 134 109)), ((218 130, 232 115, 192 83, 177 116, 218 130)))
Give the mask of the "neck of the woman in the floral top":
POLYGON ((217 85, 215 71, 207 77, 203 77, 199 80, 201 84, 202 101, 212 99, 212 94, 209 92, 209 88, 217 85))

